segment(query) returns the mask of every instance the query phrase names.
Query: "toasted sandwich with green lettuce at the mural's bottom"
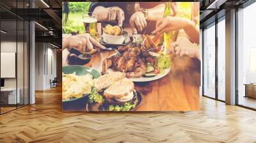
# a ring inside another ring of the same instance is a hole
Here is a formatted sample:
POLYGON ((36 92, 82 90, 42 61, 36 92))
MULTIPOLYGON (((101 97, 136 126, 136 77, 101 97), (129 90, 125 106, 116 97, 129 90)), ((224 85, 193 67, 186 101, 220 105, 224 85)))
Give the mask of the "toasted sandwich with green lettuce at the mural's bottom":
POLYGON ((138 96, 134 83, 122 72, 108 73, 95 80, 95 88, 102 96, 100 110, 129 111, 136 107, 138 96))

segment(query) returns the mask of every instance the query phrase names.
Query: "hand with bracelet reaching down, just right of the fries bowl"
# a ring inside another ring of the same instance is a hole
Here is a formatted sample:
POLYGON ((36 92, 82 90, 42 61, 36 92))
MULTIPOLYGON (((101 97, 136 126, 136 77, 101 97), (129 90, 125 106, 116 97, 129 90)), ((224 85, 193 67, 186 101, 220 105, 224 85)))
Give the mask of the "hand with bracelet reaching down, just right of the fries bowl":
POLYGON ((147 26, 145 15, 141 11, 133 13, 129 22, 132 27, 132 33, 134 34, 137 34, 137 30, 142 31, 147 26))

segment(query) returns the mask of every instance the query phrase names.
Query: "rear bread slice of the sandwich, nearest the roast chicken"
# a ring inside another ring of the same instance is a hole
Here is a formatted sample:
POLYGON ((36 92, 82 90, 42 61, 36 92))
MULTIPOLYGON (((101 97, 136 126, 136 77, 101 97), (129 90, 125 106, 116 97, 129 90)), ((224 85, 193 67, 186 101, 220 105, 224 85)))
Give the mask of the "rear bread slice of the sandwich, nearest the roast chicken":
POLYGON ((107 87, 111 86, 117 80, 123 79, 125 74, 122 72, 112 72, 106 75, 102 75, 99 79, 95 80, 95 87, 97 91, 101 89, 106 89, 107 87))

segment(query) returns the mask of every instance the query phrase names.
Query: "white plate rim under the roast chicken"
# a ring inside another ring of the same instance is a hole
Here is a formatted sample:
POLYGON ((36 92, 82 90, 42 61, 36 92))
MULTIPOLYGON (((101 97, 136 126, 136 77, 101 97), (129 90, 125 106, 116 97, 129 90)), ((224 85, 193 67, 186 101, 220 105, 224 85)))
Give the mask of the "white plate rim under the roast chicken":
MULTIPOLYGON (((166 69, 164 69, 163 74, 159 73, 155 77, 132 77, 129 79, 132 80, 132 82, 150 82, 153 80, 161 79, 162 77, 167 75, 170 72, 170 70, 171 70, 171 68, 166 68, 166 69)), ((113 70, 109 68, 108 72, 111 73, 111 72, 113 72, 113 70)))

